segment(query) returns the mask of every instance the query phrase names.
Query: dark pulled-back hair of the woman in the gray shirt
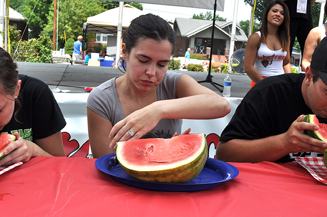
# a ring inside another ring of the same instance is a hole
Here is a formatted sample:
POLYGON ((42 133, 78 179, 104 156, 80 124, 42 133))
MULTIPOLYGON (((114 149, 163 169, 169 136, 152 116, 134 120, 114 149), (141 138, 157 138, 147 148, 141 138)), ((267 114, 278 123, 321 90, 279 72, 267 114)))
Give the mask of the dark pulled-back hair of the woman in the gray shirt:
MULTIPOLYGON (((166 20, 153 14, 141 15, 132 20, 130 26, 122 34, 122 39, 123 43, 126 44, 127 53, 142 39, 168 40, 172 44, 172 54, 176 44, 176 36, 173 28, 166 20)), ((120 60, 122 60, 123 69, 126 71, 125 60, 123 58, 120 60)), ((119 70, 122 71, 120 68, 119 70)))

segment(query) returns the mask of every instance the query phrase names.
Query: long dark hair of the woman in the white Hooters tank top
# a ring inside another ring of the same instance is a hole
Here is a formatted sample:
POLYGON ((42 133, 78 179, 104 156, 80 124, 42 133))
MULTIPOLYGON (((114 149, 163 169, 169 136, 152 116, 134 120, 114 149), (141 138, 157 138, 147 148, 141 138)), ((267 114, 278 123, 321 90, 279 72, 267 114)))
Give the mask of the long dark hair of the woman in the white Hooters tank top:
POLYGON ((263 19, 262 19, 262 24, 261 24, 261 27, 259 30, 261 32, 260 41, 265 44, 267 43, 267 41, 266 41, 266 37, 267 37, 267 33, 268 33, 267 16, 268 16, 270 9, 273 8, 275 5, 281 5, 284 10, 284 22, 278 28, 278 35, 279 35, 279 39, 282 43, 283 51, 288 51, 289 47, 290 47, 290 13, 289 13, 287 6, 285 5, 285 3, 283 1, 276 0, 274 2, 271 2, 268 5, 267 9, 265 10, 263 19))

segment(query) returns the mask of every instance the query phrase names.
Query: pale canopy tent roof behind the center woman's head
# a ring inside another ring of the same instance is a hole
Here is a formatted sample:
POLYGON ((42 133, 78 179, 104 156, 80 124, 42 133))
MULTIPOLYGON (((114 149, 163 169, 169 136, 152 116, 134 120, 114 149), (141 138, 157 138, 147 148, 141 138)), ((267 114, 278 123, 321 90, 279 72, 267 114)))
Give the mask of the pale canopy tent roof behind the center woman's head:
MULTIPOLYGON (((123 31, 129 27, 133 19, 143 14, 146 13, 128 4, 124 5, 122 20, 123 31)), ((86 30, 87 33, 117 34, 118 19, 119 7, 107 10, 93 17, 88 17, 86 23, 83 25, 83 29, 86 30)))

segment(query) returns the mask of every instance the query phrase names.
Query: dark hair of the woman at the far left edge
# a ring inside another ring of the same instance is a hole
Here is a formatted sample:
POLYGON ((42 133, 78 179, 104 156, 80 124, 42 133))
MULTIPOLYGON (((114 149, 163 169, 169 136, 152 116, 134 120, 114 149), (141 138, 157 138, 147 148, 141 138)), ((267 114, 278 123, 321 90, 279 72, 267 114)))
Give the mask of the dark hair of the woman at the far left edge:
MULTIPOLYGON (((14 96, 16 93, 16 86, 18 82, 17 64, 13 61, 10 54, 0 47, 0 91, 4 94, 14 96)), ((21 110, 21 103, 18 97, 15 99, 19 108, 15 113, 15 119, 17 113, 21 110)), ((17 121, 17 119, 16 119, 17 121)))

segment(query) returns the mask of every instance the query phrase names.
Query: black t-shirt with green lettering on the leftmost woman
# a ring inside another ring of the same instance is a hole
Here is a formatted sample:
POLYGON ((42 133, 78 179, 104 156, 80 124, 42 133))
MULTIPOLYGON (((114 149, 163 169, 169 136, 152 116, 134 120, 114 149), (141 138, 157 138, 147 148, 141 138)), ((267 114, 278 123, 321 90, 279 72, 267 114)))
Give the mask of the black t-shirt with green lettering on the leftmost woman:
POLYGON ((18 109, 15 103, 11 121, 0 132, 12 134, 18 131, 20 137, 35 143, 35 139, 43 139, 62 130, 66 121, 48 86, 26 75, 19 75, 19 79, 22 80, 18 97, 22 106, 17 114, 19 122, 14 118, 18 109))

